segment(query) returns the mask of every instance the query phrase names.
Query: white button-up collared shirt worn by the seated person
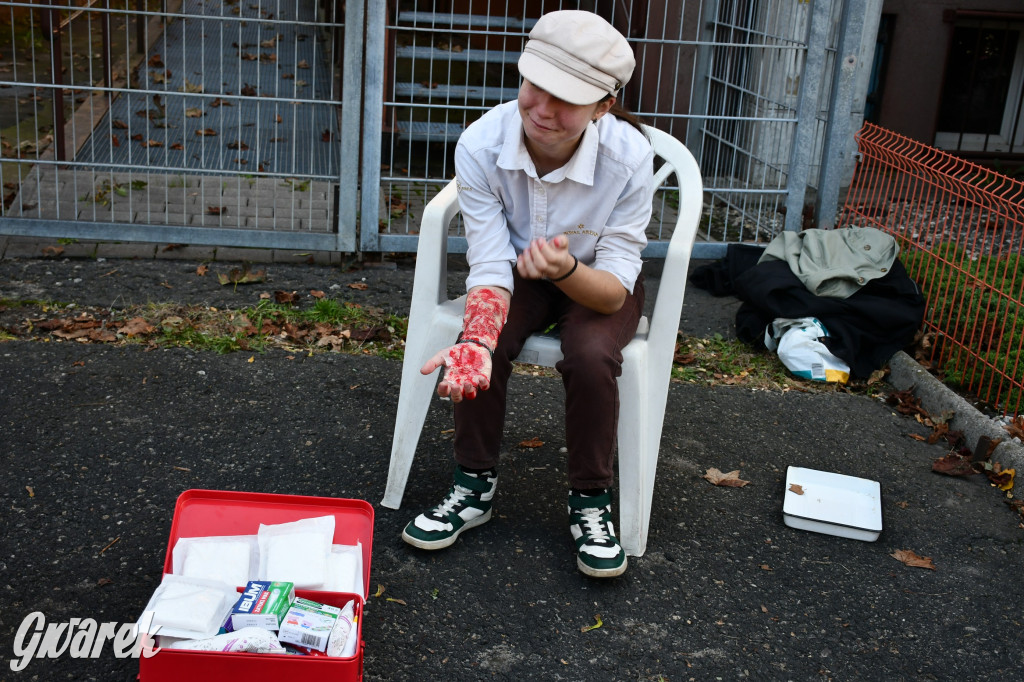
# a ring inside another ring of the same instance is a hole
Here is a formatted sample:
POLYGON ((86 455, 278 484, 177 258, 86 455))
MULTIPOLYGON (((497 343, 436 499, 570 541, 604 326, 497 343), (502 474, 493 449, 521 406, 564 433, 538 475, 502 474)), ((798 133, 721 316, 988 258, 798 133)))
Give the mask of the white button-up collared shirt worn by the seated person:
POLYGON ((653 201, 654 152, 636 128, 604 116, 569 162, 544 177, 523 143, 516 101, 474 122, 456 146, 459 205, 469 249, 466 288, 512 291, 516 256, 538 238, 565 235, 569 253, 633 291, 653 201))

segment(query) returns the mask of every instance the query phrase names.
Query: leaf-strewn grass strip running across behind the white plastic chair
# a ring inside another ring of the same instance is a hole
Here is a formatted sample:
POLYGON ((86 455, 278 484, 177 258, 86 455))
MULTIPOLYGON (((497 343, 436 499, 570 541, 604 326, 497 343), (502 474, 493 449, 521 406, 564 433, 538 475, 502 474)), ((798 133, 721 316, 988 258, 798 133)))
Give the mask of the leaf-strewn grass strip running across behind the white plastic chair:
MULTIPOLYGON (((0 340, 42 339, 191 348, 215 353, 345 352, 401 360, 409 321, 376 307, 321 298, 298 306, 271 299, 222 310, 199 305, 148 304, 122 310, 44 301, 0 300, 0 340)), ((519 374, 557 376, 532 365, 519 374)), ((733 385, 776 391, 835 391, 841 387, 792 377, 778 356, 721 335, 680 335, 674 381, 701 386, 733 385)))

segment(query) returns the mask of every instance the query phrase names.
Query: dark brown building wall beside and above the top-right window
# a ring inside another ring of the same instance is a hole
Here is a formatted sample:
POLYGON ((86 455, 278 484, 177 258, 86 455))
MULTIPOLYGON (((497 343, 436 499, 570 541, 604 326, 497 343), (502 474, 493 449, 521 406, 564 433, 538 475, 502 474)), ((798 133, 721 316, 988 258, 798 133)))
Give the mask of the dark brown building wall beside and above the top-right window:
POLYGON ((947 9, 1021 12, 1022 0, 885 0, 896 16, 879 125, 932 144, 952 25, 947 9))

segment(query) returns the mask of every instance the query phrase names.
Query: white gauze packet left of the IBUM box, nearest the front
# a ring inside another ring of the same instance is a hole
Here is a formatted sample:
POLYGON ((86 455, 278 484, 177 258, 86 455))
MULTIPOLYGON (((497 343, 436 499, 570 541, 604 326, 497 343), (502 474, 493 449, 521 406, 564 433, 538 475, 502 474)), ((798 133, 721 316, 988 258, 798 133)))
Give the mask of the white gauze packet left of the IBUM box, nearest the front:
POLYGON ((213 637, 239 597, 234 588, 220 581, 168 573, 146 605, 154 629, 168 637, 213 637))

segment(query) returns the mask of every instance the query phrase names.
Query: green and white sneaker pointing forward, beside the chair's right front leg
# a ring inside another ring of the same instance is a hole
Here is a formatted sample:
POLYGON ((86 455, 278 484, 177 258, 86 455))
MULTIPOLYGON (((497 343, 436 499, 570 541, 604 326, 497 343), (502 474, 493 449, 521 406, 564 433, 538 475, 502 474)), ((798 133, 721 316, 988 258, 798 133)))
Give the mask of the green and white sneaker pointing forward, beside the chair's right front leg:
POLYGON ((611 491, 599 495, 569 493, 569 531, 577 545, 577 566, 593 578, 626 572, 626 552, 611 523, 611 491))

